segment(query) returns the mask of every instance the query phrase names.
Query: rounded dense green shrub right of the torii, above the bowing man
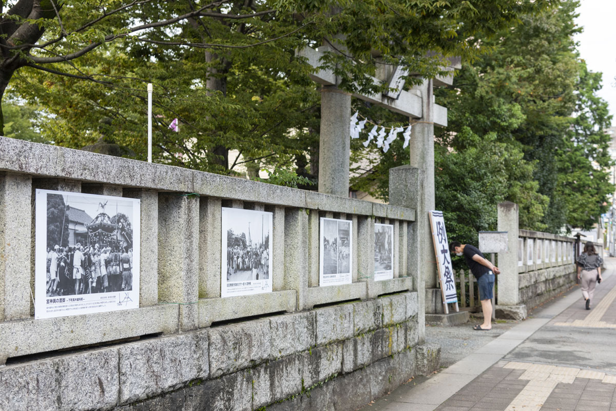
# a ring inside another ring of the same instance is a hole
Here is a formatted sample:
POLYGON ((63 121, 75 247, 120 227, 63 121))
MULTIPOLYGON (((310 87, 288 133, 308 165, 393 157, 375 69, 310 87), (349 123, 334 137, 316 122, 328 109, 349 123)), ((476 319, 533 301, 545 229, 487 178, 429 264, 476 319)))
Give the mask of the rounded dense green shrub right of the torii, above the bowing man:
POLYGON ((527 220, 540 218, 548 202, 537 193, 532 165, 521 151, 496 141, 495 134, 474 140, 456 151, 437 145, 434 156, 437 209, 444 211, 450 237, 471 244, 477 244, 478 231, 496 229, 498 202, 516 201, 527 220))

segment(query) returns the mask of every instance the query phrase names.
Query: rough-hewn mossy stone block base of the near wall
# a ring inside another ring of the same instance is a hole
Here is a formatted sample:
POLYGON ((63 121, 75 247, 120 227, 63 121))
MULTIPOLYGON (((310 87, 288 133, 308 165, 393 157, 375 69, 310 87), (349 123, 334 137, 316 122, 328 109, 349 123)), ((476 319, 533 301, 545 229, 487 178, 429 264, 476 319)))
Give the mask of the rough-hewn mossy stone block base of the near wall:
POLYGON ((0 368, 0 409, 352 410, 438 369, 439 348, 416 346, 417 313, 406 304, 416 297, 9 364, 0 368))

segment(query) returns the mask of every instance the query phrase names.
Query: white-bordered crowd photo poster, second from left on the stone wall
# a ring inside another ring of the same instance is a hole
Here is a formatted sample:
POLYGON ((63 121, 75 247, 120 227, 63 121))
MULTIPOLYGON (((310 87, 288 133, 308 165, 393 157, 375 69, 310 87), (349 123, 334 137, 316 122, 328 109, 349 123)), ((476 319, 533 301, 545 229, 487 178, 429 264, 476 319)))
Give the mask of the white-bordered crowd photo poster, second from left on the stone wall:
POLYGON ((272 291, 272 213, 222 207, 221 295, 272 291))

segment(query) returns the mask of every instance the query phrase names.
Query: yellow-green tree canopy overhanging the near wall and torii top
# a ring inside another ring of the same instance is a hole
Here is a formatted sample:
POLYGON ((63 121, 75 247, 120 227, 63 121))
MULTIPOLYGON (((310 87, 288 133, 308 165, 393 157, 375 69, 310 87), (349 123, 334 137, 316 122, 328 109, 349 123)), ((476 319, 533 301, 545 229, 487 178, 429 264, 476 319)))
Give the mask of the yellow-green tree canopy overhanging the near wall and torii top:
POLYGON ((318 153, 318 93, 298 47, 325 41, 332 51, 322 63, 340 87, 371 92, 366 74, 378 64, 433 76, 441 56, 474 57, 484 36, 553 2, 19 0, 0 22, 0 94, 17 79, 15 92, 55 115, 44 133, 60 145, 93 143, 92 124, 109 116, 118 143, 145 158, 152 81, 157 161, 229 173, 232 148, 246 161, 290 167, 318 153), (179 134, 167 128, 173 118, 179 134))

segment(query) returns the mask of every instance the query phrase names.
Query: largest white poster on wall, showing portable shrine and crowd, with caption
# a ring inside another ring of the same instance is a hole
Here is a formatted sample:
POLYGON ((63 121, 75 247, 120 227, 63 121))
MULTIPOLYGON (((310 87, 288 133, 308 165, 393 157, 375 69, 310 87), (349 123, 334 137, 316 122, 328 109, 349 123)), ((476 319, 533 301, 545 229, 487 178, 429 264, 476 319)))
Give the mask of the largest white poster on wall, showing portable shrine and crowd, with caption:
POLYGON ((34 316, 139 307, 139 199, 36 190, 34 316))

